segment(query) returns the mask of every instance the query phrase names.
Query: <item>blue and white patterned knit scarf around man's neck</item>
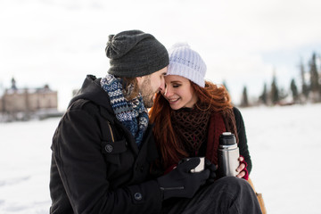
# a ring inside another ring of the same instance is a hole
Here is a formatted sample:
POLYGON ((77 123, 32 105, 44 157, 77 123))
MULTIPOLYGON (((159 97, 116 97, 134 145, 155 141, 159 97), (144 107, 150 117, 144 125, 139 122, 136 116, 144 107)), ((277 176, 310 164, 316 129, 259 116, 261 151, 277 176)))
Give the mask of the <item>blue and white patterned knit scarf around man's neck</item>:
POLYGON ((138 148, 143 141, 144 132, 148 126, 148 112, 144 107, 143 97, 137 95, 133 100, 128 101, 123 94, 122 80, 108 74, 102 78, 101 86, 111 100, 111 107, 116 118, 135 137, 138 148))

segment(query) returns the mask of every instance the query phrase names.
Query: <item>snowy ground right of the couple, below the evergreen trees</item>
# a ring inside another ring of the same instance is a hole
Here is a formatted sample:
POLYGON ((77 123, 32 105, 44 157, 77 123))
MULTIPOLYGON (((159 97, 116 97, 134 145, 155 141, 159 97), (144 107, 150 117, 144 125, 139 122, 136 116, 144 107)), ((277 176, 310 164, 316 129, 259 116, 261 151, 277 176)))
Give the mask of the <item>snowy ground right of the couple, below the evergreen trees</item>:
POLYGON ((321 213, 321 105, 243 109, 251 179, 268 213, 321 213))

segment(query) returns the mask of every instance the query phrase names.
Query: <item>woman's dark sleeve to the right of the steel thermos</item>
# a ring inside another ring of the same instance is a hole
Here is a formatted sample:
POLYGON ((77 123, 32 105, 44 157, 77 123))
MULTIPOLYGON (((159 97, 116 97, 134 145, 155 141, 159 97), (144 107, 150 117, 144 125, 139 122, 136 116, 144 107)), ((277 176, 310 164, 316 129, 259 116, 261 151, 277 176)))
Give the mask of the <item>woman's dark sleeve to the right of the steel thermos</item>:
POLYGON ((236 128, 237 128, 237 135, 239 138, 239 149, 240 149, 240 154, 244 157, 244 160, 248 164, 247 170, 249 174, 251 173, 251 156, 247 144, 247 139, 246 139, 246 132, 245 132, 245 126, 244 126, 244 121, 241 112, 237 109, 233 109, 235 113, 235 121, 236 121, 236 128))

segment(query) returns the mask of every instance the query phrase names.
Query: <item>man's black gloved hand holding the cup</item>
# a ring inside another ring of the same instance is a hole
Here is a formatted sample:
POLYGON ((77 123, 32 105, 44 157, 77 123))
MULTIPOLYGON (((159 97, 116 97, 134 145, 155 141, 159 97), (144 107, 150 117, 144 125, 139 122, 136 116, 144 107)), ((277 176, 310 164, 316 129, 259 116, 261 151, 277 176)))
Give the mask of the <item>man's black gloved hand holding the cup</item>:
POLYGON ((169 174, 157 178, 161 188, 163 199, 171 197, 192 198, 193 194, 206 183, 210 176, 210 170, 204 169, 201 172, 191 173, 200 163, 200 158, 190 158, 177 165, 169 174))

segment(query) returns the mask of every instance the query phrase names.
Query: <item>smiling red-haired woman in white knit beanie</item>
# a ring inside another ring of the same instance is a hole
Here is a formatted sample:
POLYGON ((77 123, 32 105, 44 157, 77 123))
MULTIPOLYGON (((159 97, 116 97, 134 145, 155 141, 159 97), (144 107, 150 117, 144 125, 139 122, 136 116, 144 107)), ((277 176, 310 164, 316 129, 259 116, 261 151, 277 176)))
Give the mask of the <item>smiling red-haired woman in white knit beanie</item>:
POLYGON ((251 172, 241 112, 233 107, 224 86, 205 81, 206 65, 189 45, 177 44, 169 50, 166 87, 155 98, 150 118, 161 152, 159 165, 173 169, 187 157, 206 157, 218 164, 218 137, 229 131, 236 137, 241 157, 237 177, 251 172))

